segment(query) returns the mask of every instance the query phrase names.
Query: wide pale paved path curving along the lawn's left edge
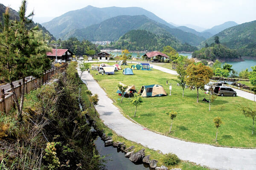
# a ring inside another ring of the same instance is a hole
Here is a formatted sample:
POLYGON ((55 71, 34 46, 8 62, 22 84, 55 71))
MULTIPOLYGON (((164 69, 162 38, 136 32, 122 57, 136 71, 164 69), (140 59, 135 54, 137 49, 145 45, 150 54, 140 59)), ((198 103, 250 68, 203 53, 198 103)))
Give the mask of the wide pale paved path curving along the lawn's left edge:
MULTIPOLYGON (((80 71, 79 71, 80 74, 80 71)), ((188 160, 220 170, 256 170, 256 149, 215 147, 208 144, 185 142, 149 130, 126 119, 105 91, 87 72, 81 79, 93 94, 99 95, 96 106, 104 124, 126 139, 162 153, 175 153, 180 159, 188 160)))

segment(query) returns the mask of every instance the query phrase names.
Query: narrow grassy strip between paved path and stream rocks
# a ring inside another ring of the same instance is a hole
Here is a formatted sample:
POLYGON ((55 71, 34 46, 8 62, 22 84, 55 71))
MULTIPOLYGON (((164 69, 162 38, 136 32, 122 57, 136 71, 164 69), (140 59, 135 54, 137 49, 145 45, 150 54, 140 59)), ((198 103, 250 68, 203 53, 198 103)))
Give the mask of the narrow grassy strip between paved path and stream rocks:
MULTIPOLYGON (((84 101, 84 105, 85 107, 89 107, 89 101, 88 101, 88 96, 85 93, 85 91, 87 90, 86 85, 81 85, 81 97, 84 101)), ((96 121, 96 125, 100 130, 104 130, 104 132, 106 133, 107 136, 112 136, 113 141, 118 141, 118 142, 124 142, 126 147, 130 147, 130 146, 135 146, 135 152, 141 150, 141 149, 145 149, 145 155, 151 155, 150 159, 155 159, 158 161, 158 166, 161 166, 164 164, 164 160, 165 160, 165 155, 160 153, 160 151, 155 151, 155 150, 151 150, 147 147, 144 147, 141 144, 137 144, 135 142, 131 142, 125 138, 123 138, 122 136, 118 136, 113 130, 109 129, 108 127, 106 127, 104 125, 104 123, 102 122, 102 120, 99 118, 98 113, 94 114, 94 108, 93 107, 89 107, 88 110, 88 114, 96 121)), ((125 156, 125 154, 124 154, 125 156)), ((108 158, 108 156, 107 156, 108 158)), ((128 158, 127 158, 128 159, 128 158)), ((200 167, 194 163, 191 162, 187 162, 187 161, 181 161, 179 164, 175 165, 175 166, 168 166, 169 169, 172 168, 181 168, 182 170, 208 170, 205 167, 200 167)))

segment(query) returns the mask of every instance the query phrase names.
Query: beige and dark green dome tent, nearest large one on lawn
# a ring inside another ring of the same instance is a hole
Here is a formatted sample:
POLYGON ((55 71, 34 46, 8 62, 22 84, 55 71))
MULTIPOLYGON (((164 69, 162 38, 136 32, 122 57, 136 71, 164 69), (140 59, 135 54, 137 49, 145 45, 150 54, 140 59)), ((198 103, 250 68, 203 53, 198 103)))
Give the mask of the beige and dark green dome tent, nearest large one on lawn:
POLYGON ((142 97, 156 97, 156 96, 166 96, 166 91, 161 85, 143 85, 138 94, 142 97))

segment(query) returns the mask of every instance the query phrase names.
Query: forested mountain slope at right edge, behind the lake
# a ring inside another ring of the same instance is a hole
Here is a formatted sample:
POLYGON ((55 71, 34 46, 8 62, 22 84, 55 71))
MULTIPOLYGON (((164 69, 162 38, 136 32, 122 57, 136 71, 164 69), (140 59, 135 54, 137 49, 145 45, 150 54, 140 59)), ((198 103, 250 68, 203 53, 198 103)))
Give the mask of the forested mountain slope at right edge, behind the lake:
MULTIPOLYGON (((219 37, 221 44, 238 49, 241 56, 256 57, 256 20, 227 28, 216 36, 219 37)), ((212 42, 214 37, 202 42, 201 47, 212 42)))

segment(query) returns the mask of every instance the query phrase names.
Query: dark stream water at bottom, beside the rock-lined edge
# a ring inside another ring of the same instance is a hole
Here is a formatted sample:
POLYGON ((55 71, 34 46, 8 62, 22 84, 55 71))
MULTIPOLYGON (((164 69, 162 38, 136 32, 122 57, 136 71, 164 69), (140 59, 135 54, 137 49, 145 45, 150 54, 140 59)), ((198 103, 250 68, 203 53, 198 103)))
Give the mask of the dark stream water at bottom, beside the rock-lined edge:
POLYGON ((146 165, 131 162, 129 158, 125 157, 125 153, 118 152, 117 148, 112 146, 105 147, 100 137, 94 143, 99 154, 106 156, 105 160, 107 162, 104 164, 107 170, 149 170, 146 165))

